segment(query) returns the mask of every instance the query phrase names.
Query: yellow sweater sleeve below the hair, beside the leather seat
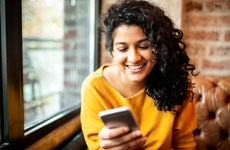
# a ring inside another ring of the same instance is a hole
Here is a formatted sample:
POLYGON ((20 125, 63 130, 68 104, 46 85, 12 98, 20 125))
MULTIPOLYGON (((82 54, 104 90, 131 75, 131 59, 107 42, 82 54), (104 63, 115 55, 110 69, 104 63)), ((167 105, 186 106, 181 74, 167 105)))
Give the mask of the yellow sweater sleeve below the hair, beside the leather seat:
POLYGON ((195 101, 185 101, 173 127, 172 146, 175 149, 195 149, 193 131, 197 127, 195 101))

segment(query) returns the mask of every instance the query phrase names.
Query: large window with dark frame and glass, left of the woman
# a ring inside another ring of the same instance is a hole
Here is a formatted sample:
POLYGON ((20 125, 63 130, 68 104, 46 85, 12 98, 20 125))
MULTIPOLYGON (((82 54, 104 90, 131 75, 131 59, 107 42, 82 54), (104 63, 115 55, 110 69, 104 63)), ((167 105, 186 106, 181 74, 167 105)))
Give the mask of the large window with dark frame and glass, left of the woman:
POLYGON ((81 83, 98 65, 96 7, 1 0, 1 143, 32 142, 79 113, 81 83))

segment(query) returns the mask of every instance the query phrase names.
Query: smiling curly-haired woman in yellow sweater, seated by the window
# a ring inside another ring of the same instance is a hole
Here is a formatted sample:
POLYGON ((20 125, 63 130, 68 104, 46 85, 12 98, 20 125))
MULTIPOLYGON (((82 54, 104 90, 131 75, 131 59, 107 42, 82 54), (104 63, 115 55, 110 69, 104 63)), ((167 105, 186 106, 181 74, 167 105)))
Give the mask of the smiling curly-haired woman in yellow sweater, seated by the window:
POLYGON ((195 105, 182 31, 154 4, 123 0, 104 18, 106 47, 114 64, 102 65, 82 85, 81 122, 95 149, 195 149, 195 105), (121 106, 140 130, 109 129, 98 113, 121 106))

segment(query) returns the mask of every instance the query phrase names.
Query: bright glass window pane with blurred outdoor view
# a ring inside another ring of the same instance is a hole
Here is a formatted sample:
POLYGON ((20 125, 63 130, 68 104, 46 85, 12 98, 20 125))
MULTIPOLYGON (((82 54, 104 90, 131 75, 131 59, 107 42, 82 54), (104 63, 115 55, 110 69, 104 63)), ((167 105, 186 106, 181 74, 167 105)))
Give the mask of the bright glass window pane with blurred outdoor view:
POLYGON ((90 0, 23 0, 25 128, 80 106, 89 74, 90 0))

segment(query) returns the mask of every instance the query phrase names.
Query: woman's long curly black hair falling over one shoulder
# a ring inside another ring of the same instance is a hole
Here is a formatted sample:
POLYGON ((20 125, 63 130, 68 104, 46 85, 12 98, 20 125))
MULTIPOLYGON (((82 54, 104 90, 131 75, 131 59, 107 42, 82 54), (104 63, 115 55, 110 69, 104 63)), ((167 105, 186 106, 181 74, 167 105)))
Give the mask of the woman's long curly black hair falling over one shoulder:
POLYGON ((158 110, 175 111, 175 106, 193 95, 189 78, 195 66, 189 63, 182 42, 183 32, 155 4, 142 0, 122 0, 113 4, 104 18, 106 48, 113 51, 113 31, 121 24, 137 25, 156 50, 156 65, 147 77, 145 92, 158 110))

